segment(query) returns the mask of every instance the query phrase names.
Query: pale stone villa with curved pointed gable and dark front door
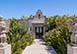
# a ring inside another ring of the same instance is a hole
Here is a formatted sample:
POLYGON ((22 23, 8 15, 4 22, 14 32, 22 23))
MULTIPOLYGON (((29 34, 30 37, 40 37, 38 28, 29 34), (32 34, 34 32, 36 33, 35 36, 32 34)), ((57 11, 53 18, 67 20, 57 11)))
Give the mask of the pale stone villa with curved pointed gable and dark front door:
POLYGON ((42 11, 37 10, 34 16, 30 16, 27 20, 19 20, 22 25, 27 29, 28 32, 32 32, 36 35, 36 38, 41 38, 41 36, 46 32, 47 28, 47 17, 43 15, 42 11))

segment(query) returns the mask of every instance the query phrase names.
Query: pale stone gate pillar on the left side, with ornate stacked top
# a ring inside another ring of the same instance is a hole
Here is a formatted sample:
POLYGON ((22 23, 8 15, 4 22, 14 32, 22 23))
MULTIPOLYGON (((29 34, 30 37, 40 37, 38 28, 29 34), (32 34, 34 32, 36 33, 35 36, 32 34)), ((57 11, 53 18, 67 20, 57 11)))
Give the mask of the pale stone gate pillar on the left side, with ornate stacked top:
POLYGON ((7 23, 3 18, 0 18, 0 54, 11 54, 11 45, 6 41, 7 23))

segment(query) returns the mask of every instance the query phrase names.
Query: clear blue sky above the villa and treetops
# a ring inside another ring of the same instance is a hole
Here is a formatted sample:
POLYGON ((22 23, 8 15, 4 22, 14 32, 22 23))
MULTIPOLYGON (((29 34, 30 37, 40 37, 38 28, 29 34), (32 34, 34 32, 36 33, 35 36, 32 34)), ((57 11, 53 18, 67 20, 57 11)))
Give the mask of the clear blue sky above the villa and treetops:
POLYGON ((0 0, 0 15, 20 18, 35 15, 41 9, 44 15, 77 15, 77 0, 0 0))

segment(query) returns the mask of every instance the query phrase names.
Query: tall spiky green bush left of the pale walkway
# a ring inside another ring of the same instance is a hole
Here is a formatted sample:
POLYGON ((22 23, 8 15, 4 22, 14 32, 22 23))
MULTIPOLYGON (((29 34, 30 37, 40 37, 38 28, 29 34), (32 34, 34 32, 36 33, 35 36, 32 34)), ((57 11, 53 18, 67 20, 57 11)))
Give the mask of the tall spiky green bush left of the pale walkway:
POLYGON ((10 19, 10 29, 7 33, 7 42, 11 44, 12 54, 21 54, 22 50, 34 40, 34 35, 28 33, 16 19, 10 19))

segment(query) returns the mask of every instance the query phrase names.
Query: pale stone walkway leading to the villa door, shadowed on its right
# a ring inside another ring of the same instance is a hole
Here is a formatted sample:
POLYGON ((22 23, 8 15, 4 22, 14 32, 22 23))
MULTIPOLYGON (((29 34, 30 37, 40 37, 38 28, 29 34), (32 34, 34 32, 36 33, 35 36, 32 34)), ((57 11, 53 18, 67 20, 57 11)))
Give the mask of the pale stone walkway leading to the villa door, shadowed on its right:
POLYGON ((44 45, 41 39, 35 39, 31 46, 27 46, 22 54, 56 54, 52 46, 44 45))

